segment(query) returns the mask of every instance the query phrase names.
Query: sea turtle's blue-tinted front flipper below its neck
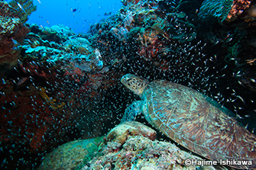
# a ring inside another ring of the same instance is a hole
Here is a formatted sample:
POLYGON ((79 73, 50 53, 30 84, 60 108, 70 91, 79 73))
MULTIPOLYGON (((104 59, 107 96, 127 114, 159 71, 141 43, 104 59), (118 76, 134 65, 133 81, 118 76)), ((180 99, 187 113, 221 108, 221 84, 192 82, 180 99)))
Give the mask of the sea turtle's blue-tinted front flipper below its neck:
POLYGON ((141 105, 142 101, 134 101, 129 107, 127 107, 121 123, 125 121, 134 121, 136 116, 142 113, 141 105))

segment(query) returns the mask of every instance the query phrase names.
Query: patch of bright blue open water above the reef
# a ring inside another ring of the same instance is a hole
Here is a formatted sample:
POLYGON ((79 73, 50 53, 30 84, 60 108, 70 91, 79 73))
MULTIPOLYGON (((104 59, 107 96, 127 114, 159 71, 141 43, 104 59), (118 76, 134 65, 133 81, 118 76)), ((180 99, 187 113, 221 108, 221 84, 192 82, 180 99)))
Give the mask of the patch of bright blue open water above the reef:
POLYGON ((33 0, 33 2, 37 5, 37 11, 31 14, 28 24, 36 23, 42 27, 63 24, 77 34, 86 32, 91 24, 110 16, 104 15, 105 13, 115 14, 122 6, 121 0, 33 0))

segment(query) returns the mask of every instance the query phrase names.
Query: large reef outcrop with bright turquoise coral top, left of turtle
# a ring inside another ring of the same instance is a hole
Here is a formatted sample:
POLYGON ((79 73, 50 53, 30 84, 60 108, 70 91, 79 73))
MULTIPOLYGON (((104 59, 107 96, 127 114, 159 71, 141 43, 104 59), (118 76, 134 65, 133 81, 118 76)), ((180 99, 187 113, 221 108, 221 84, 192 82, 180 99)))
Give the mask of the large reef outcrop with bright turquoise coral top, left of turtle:
POLYGON ((101 52, 85 37, 74 36, 62 25, 44 29, 28 26, 31 32, 19 46, 19 59, 9 72, 5 70, 9 76, 0 84, 0 139, 9 147, 20 143, 24 152, 31 154, 62 141, 60 134, 74 128, 79 110, 93 108, 94 100, 102 98, 102 89, 115 84, 115 75, 109 75, 101 52), (59 137, 52 142, 52 136, 59 137))

